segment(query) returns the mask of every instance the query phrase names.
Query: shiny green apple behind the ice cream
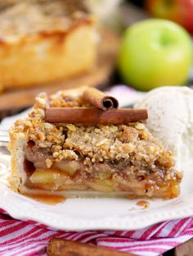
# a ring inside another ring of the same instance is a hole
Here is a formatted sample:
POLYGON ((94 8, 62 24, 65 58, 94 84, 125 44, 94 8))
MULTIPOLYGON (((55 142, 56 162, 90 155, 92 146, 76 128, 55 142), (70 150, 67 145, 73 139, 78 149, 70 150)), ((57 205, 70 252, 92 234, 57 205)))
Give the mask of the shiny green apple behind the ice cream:
POLYGON ((183 85, 192 60, 190 35, 173 21, 150 19, 123 35, 118 68, 126 84, 141 90, 183 85))

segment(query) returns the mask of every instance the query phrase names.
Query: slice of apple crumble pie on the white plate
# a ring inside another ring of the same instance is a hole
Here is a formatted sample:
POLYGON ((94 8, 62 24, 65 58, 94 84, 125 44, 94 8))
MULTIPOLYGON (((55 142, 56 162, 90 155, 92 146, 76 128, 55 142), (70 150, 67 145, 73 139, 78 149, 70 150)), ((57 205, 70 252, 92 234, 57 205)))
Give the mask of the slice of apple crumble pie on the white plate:
POLYGON ((29 117, 10 130, 13 190, 65 197, 171 199, 180 194, 182 174, 174 168, 173 153, 142 122, 51 123, 47 107, 93 109, 80 90, 38 95, 29 117))

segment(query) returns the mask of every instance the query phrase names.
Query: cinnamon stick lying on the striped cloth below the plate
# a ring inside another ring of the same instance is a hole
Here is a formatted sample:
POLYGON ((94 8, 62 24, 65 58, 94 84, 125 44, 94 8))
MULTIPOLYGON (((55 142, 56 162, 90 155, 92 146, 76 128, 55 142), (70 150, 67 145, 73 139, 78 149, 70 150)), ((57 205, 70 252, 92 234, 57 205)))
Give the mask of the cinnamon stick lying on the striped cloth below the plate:
POLYGON ((52 238, 47 246, 48 256, 126 256, 126 254, 114 249, 105 249, 94 245, 86 245, 79 242, 52 238))

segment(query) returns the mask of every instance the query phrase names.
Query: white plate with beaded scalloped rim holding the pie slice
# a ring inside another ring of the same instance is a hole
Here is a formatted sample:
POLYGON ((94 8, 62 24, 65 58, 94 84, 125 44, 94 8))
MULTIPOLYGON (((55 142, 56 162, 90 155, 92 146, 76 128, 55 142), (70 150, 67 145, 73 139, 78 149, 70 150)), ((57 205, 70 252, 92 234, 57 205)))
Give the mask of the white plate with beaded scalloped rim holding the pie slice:
POLYGON ((47 205, 16 194, 7 185, 10 157, 0 155, 0 208, 20 220, 33 220, 53 229, 137 230, 165 220, 193 215, 193 164, 183 168, 182 194, 172 200, 149 200, 150 208, 129 199, 67 199, 47 205))

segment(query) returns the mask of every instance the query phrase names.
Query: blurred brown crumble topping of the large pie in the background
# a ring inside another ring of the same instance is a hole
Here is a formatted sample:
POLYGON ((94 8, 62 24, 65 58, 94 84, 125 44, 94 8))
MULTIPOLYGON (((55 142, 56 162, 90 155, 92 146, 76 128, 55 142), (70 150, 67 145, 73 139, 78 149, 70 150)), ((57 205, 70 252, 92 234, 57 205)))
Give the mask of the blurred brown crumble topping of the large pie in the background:
POLYGON ((79 0, 11 0, 0 3, 0 21, 0 39, 14 41, 25 34, 65 31, 92 17, 79 0))

